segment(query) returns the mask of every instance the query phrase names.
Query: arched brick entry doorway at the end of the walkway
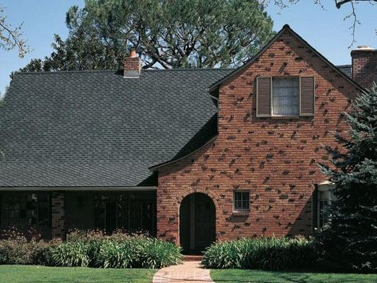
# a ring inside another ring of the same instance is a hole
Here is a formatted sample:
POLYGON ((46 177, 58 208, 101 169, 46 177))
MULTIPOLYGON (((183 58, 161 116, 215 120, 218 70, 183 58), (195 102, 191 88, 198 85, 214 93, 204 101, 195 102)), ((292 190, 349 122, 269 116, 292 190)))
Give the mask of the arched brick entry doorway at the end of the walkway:
POLYGON ((200 253, 216 240, 216 208, 206 194, 187 195, 180 204, 180 246, 184 253, 200 253))

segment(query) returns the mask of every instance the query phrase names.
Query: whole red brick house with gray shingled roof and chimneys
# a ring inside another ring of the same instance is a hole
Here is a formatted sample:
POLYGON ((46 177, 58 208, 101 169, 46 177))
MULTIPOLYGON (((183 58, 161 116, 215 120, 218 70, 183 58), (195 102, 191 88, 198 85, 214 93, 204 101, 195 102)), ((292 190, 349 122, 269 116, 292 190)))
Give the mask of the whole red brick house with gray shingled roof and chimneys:
POLYGON ((377 80, 377 50, 335 67, 288 25, 238 69, 15 74, 0 110, 1 227, 149 231, 186 251, 305 236, 326 221, 323 144, 377 80))

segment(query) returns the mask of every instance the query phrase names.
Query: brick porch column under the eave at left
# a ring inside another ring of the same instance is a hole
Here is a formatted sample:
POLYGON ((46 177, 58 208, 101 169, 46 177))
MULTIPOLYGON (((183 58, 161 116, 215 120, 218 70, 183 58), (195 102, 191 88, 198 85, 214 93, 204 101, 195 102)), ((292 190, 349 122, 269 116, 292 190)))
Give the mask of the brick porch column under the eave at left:
POLYGON ((52 238, 64 238, 65 234, 65 194, 64 192, 52 192, 51 195, 51 236, 52 238))

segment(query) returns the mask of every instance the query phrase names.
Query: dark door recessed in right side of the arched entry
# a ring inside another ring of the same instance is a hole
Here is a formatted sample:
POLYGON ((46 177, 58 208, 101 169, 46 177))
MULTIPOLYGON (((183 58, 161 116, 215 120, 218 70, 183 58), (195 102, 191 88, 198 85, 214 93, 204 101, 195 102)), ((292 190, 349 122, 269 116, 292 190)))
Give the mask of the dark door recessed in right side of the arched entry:
POLYGON ((204 250, 215 241, 215 207, 207 195, 195 195, 195 249, 204 250))

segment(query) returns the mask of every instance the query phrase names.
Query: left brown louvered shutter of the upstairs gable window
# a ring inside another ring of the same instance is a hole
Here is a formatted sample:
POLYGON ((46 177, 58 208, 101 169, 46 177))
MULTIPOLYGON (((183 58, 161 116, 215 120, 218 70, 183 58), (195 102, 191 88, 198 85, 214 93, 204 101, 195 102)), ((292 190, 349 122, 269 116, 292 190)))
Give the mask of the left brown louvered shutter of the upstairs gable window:
POLYGON ((271 116, 271 77, 257 77, 257 117, 271 116))

